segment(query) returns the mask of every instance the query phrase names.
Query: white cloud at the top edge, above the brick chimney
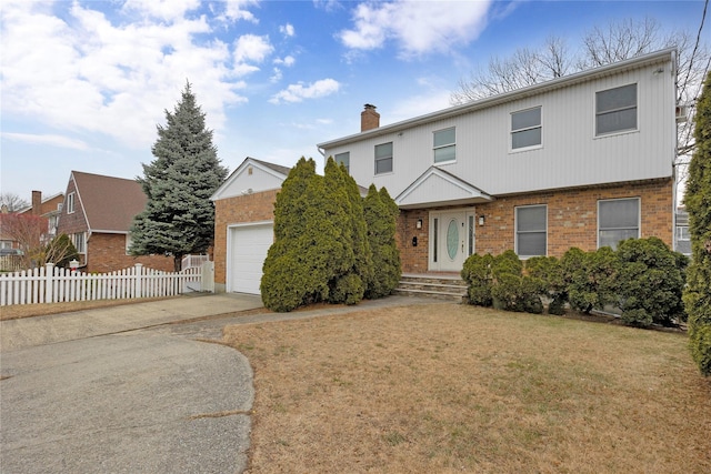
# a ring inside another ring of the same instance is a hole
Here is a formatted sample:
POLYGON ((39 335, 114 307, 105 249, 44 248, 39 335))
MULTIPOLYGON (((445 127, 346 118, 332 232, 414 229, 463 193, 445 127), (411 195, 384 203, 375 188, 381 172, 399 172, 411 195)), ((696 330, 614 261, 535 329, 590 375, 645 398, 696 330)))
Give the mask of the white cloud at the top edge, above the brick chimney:
POLYGON ((477 39, 490 4, 490 0, 360 3, 353 11, 354 28, 341 31, 340 39, 356 50, 382 48, 393 40, 401 57, 447 52, 477 39))

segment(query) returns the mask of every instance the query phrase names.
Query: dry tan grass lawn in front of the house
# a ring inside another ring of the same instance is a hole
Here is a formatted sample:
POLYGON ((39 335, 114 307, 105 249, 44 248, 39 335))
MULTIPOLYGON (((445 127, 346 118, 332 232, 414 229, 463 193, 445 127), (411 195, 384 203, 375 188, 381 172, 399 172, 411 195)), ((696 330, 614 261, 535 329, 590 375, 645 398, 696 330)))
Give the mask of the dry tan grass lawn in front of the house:
POLYGON ((431 304, 229 326, 250 473, 709 473, 680 333, 431 304))

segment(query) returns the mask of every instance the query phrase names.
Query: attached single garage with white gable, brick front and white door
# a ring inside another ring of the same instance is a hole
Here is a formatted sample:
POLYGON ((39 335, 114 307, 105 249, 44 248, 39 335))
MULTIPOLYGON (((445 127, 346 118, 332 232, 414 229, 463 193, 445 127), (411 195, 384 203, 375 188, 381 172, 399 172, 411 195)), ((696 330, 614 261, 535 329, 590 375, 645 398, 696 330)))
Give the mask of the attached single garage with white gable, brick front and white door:
POLYGON ((289 168, 247 158, 214 192, 216 291, 259 293, 274 201, 289 168))

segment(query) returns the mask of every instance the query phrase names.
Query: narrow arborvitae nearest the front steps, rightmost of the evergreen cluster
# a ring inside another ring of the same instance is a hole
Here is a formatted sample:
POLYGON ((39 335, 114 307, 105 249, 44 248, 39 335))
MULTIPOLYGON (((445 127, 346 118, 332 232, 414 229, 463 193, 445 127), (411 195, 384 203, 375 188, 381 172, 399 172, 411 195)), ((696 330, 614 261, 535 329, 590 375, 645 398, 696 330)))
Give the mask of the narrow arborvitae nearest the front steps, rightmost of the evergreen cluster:
POLYGON ((371 184, 363 202, 363 212, 373 262, 373 278, 365 296, 372 300, 388 296, 400 282, 402 270, 395 243, 395 222, 400 210, 385 188, 378 191, 371 184))

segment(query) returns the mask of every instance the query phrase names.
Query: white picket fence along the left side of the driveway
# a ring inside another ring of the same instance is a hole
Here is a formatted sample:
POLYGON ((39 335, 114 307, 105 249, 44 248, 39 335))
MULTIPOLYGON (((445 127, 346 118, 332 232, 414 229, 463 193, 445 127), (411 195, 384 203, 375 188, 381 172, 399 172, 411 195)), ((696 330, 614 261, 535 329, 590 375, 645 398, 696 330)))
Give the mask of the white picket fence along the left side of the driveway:
POLYGON ((203 273, 200 266, 169 273, 137 263, 111 273, 91 274, 48 263, 44 268, 0 274, 0 306, 173 296, 201 289, 203 273))

